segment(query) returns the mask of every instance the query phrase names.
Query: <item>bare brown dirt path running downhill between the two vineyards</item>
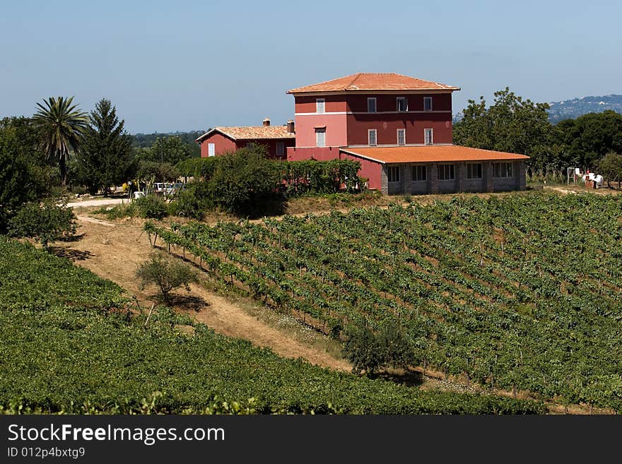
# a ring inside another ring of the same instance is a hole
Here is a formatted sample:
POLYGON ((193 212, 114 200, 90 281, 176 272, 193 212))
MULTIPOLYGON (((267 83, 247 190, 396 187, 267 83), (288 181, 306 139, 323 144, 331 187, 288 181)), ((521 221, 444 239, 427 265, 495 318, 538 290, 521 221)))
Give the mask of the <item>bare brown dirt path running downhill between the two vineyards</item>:
MULTIPOLYGON (((73 242, 57 242, 56 254, 71 258, 78 266, 121 285, 135 295, 143 306, 151 306, 152 292, 139 289, 134 271, 148 258, 151 249, 148 237, 138 225, 107 222, 85 215, 77 215, 78 232, 73 242)), ((293 340, 286 333, 269 326, 257 317, 231 304, 227 299, 209 292, 200 285, 191 285, 191 304, 177 308, 205 323, 215 331, 235 338, 245 338, 254 345, 270 347, 283 357, 303 357, 312 364, 331 369, 349 371, 351 366, 343 359, 335 359, 322 352, 293 340)), ((180 292, 182 295, 185 292, 180 292)))

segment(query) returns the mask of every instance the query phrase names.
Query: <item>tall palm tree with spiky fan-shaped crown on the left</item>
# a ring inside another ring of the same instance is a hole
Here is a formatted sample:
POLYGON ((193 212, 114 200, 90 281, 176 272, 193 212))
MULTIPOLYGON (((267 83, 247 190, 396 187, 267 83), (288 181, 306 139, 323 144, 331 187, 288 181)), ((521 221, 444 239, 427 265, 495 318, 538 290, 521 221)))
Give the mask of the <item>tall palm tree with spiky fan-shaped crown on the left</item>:
POLYGON ((73 101, 74 97, 49 97, 43 100, 45 106, 37 103, 39 111, 33 116, 47 157, 58 159, 63 186, 67 184, 69 154, 78 151, 88 122, 87 114, 78 105, 71 105, 73 101))

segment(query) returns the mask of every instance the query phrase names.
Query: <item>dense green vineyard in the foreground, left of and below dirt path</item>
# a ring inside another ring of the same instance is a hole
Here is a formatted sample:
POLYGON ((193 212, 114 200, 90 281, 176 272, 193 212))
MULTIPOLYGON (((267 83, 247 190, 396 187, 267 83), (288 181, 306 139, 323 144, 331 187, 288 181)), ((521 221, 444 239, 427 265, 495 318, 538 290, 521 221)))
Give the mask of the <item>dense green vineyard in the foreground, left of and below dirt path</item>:
POLYGON ((0 237, 0 414, 545 411, 283 359, 165 307, 150 314, 114 283, 0 237))

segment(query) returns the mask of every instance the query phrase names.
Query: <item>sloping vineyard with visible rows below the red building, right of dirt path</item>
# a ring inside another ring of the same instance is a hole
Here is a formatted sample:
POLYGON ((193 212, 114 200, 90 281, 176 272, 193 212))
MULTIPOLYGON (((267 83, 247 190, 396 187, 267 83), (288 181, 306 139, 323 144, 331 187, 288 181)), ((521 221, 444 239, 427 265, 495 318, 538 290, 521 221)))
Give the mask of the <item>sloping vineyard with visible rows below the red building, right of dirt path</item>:
POLYGON ((336 338, 397 319, 424 367, 622 412, 621 225, 617 197, 531 193, 146 230, 336 338))

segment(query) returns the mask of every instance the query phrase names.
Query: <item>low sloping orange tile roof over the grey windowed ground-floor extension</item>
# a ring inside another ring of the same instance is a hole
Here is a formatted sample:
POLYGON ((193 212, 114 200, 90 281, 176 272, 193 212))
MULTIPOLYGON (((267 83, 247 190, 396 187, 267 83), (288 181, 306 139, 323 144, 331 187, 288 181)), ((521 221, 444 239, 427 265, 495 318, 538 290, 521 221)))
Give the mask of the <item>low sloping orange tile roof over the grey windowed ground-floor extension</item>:
POLYGON ((482 150, 461 145, 421 145, 392 147, 341 148, 351 155, 368 158, 382 164, 394 162, 458 162, 528 160, 527 155, 503 151, 482 150))

